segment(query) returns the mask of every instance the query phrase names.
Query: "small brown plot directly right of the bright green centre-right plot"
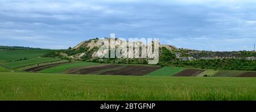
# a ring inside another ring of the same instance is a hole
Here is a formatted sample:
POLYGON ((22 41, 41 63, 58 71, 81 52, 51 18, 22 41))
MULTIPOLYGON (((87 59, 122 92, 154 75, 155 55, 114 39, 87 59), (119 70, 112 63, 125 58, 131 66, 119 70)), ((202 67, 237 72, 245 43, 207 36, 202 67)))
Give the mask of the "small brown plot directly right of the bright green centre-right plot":
POLYGON ((200 73, 204 72, 204 70, 200 70, 200 69, 185 69, 177 74, 175 74, 174 76, 197 76, 200 73))

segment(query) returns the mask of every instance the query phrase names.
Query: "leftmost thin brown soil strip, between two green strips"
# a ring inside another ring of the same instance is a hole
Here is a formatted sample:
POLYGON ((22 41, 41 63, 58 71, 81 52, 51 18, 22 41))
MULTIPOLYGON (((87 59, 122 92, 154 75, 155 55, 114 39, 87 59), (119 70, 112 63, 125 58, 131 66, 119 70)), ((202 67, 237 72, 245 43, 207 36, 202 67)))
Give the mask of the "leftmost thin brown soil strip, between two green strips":
POLYGON ((33 67, 33 68, 25 69, 24 71, 26 71, 26 72, 39 72, 40 70, 44 70, 44 69, 47 69, 47 68, 55 67, 57 65, 66 64, 66 63, 71 63, 71 62, 63 62, 63 63, 41 65, 41 66, 38 66, 38 67, 33 67))

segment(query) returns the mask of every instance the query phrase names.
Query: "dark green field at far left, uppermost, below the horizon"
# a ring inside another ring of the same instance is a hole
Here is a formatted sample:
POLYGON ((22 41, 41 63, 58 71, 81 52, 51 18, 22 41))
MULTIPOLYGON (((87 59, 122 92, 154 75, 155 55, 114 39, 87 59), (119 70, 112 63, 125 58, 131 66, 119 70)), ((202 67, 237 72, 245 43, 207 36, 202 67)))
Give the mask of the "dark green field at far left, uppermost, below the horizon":
POLYGON ((27 58, 35 58, 49 52, 49 49, 41 50, 0 50, 0 60, 10 61, 27 58))

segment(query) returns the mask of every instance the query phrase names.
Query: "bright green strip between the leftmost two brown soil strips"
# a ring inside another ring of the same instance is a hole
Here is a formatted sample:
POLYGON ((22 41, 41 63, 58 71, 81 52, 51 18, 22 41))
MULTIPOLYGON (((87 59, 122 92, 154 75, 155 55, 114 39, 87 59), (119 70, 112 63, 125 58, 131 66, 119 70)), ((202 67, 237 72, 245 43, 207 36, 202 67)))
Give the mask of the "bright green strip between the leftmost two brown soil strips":
POLYGON ((62 73, 65 70, 68 70, 71 68, 84 67, 84 66, 94 65, 94 64, 97 64, 97 63, 77 61, 76 63, 68 63, 68 64, 58 65, 56 67, 44 69, 40 72, 41 73, 62 73))

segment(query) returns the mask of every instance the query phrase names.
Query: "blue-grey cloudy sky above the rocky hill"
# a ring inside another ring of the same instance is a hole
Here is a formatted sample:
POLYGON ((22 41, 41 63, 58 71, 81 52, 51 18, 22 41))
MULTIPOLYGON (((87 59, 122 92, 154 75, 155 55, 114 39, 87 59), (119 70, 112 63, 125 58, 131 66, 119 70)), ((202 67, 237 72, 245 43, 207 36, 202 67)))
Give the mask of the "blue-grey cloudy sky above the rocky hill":
POLYGON ((0 0, 0 45, 66 49, 110 33, 179 48, 251 51, 256 1, 0 0))

